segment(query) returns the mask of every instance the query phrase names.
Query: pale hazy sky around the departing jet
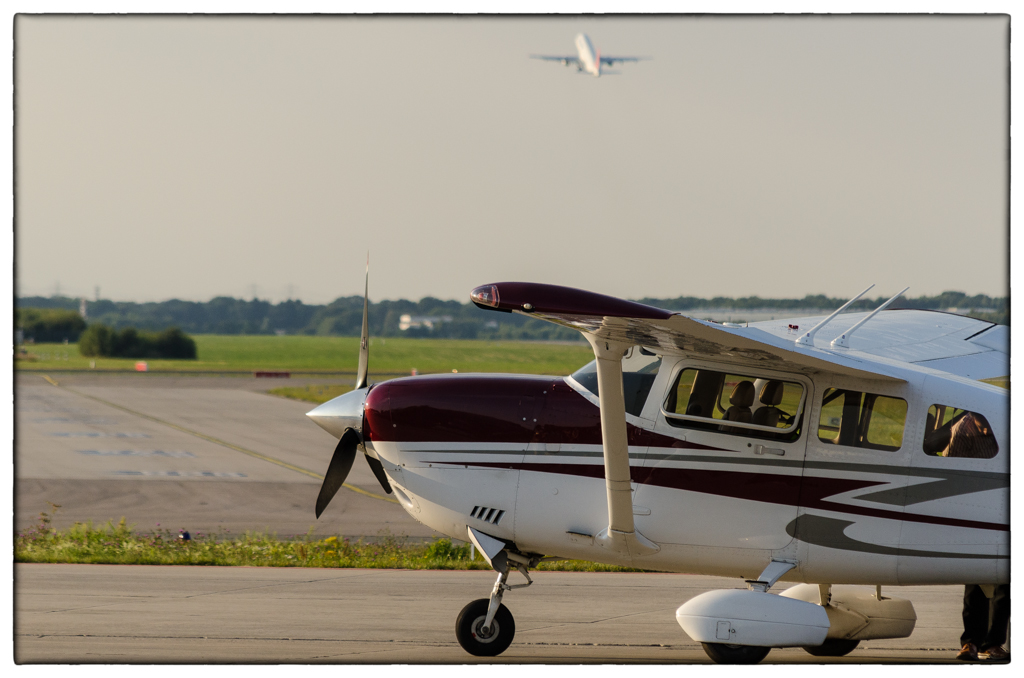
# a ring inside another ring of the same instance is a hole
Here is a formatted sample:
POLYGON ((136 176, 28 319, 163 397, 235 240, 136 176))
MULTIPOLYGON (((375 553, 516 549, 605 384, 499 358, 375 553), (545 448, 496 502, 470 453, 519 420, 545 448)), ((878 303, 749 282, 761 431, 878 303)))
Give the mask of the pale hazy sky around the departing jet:
POLYGON ((1009 19, 15 22, 20 295, 1008 291, 1009 19), (649 61, 599 79, 530 53, 649 61))

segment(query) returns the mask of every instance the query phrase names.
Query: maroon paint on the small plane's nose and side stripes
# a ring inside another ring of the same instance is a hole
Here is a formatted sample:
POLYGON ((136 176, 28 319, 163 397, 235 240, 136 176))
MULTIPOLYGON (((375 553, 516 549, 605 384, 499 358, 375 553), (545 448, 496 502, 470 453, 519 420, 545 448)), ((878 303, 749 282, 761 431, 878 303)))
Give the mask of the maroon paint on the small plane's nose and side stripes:
MULTIPOLYGON (((507 375, 424 375, 386 381, 372 388, 365 405, 364 434, 393 442, 530 442, 600 446, 600 410, 560 377, 507 375)), ((627 423, 629 444, 665 450, 732 452, 686 442, 627 423)), ((709 460, 713 461, 713 460, 709 460)), ((432 463, 449 464, 450 461, 432 463)), ((460 461, 459 465, 467 462, 460 461)), ((602 464, 469 462, 471 466, 514 468, 603 478, 602 464)), ((886 481, 820 476, 634 467, 641 484, 749 499, 892 520, 1009 532, 999 523, 921 515, 829 501, 846 492, 886 481)))

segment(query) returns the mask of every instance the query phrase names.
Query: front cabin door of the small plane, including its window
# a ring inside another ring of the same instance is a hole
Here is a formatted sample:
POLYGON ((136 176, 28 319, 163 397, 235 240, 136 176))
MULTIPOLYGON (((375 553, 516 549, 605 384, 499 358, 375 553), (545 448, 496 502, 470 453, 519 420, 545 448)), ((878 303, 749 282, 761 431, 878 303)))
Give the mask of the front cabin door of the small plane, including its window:
POLYGON ((648 539, 761 550, 781 549, 793 541, 786 528, 797 518, 808 437, 806 404, 813 395, 812 384, 793 375, 731 374, 739 370, 708 370, 718 373, 721 383, 715 385, 718 394, 703 405, 714 406, 718 419, 672 417, 677 411, 696 411, 692 402, 680 402, 678 393, 688 397, 701 386, 694 367, 677 367, 669 379, 634 498, 638 507, 650 511, 636 515, 637 527, 648 539), (760 392, 770 380, 785 383, 785 399, 778 405, 794 418, 788 433, 743 430, 723 423, 725 414, 717 404, 728 402, 724 394, 735 390, 740 381, 752 382, 751 388, 756 385, 760 392))

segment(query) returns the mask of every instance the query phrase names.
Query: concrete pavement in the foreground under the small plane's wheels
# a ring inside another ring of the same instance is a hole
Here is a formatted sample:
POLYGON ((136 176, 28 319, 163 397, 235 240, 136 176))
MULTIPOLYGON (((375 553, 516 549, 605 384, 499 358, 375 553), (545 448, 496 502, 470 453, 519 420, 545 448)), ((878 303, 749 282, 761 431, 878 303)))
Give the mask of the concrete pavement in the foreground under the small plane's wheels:
MULTIPOLYGON (((18 663, 707 664, 675 620, 731 579, 535 573, 508 593, 512 646, 467 654, 455 621, 486 597, 488 571, 16 564, 18 663)), ((785 585, 777 585, 784 588, 785 585)), ((773 649, 767 664, 956 663, 963 588, 891 587, 909 598, 909 638, 863 641, 845 658, 773 649)))

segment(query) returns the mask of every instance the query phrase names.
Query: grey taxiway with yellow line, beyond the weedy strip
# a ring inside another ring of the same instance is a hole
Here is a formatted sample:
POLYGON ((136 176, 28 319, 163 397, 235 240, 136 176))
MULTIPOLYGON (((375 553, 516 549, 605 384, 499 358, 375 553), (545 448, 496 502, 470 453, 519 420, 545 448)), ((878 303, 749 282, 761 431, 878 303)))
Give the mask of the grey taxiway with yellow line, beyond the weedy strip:
MULTIPOLYGON (((367 464, 316 520, 336 440, 312 404, 265 392, 302 380, 158 374, 15 376, 15 526, 58 504, 53 525, 124 516, 136 529, 429 538, 367 464)), ((308 381, 308 380, 304 380, 308 381)), ((327 379, 315 379, 317 383, 327 379)))

